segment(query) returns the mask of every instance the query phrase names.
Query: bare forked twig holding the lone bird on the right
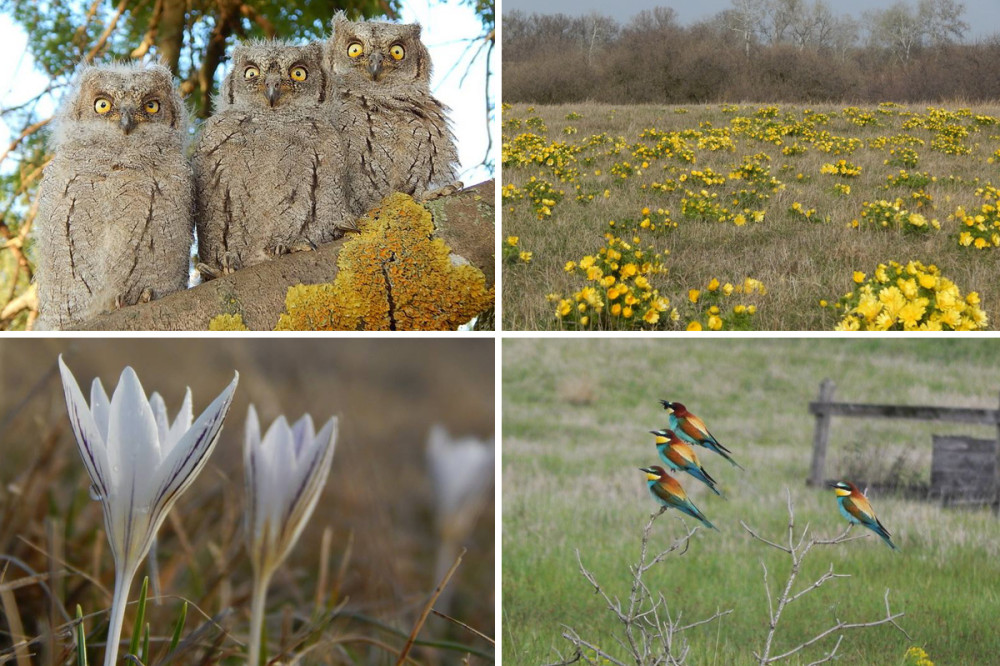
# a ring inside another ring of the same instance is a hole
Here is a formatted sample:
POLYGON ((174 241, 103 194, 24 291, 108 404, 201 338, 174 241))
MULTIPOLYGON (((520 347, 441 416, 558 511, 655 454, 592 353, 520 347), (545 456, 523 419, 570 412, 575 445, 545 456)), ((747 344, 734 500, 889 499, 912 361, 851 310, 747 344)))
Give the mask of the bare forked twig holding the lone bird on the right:
MULTIPOLYGON (((826 573, 824 573, 822 576, 820 576, 819 578, 817 578, 812 584, 806 586, 805 588, 803 588, 803 589, 801 589, 798 592, 795 592, 793 594, 792 593, 792 586, 794 585, 795 579, 796 579, 796 577, 799 574, 799 570, 800 570, 800 568, 802 566, 802 561, 803 561, 803 559, 805 559, 805 556, 809 553, 809 551, 812 550, 812 547, 813 546, 831 546, 831 545, 836 545, 836 544, 841 544, 841 543, 847 543, 848 541, 854 541, 856 539, 863 539, 863 538, 867 537, 866 534, 863 534, 863 535, 860 535, 860 536, 858 536, 858 535, 856 535, 856 536, 850 536, 851 525, 848 525, 844 529, 843 532, 841 532, 839 535, 833 537, 832 539, 817 539, 817 538, 813 537, 813 538, 809 539, 808 541, 806 541, 806 536, 809 533, 809 524, 807 523, 806 526, 803 528, 802 533, 799 535, 798 542, 796 543, 796 541, 795 541, 795 511, 792 508, 792 494, 787 489, 786 489, 785 492, 786 492, 786 495, 787 495, 787 498, 788 498, 788 500, 787 500, 787 503, 788 503, 788 546, 783 546, 783 545, 780 545, 778 543, 775 543, 774 541, 770 541, 768 539, 765 539, 764 537, 760 536, 757 532, 755 532, 745 522, 743 522, 742 520, 740 521, 740 525, 743 526, 743 529, 745 529, 750 534, 751 537, 753 537, 757 541, 760 541, 762 543, 767 544, 768 546, 770 546, 772 548, 775 548, 775 549, 780 550, 780 551, 782 551, 784 553, 787 553, 792 558, 792 568, 788 572, 788 579, 785 581, 785 588, 782 591, 781 596, 778 597, 777 608, 774 606, 774 601, 773 601, 773 598, 771 596, 771 587, 768 584, 768 580, 767 580, 767 566, 764 564, 763 561, 761 561, 761 563, 760 563, 760 566, 764 569, 764 590, 767 592, 767 613, 768 613, 768 623, 769 624, 768 624, 767 638, 765 639, 763 650, 761 650, 760 652, 754 652, 753 653, 754 654, 754 658, 758 660, 759 666, 767 666, 768 664, 773 664, 773 663, 781 661, 783 659, 787 659, 788 657, 790 657, 793 654, 799 652, 800 650, 803 650, 803 649, 805 649, 805 648, 807 648, 807 647, 809 647, 809 646, 811 646, 811 645, 813 645, 813 644, 815 644, 815 643, 823 640, 827 636, 830 636, 831 634, 834 634, 836 632, 843 631, 843 630, 846 630, 846 629, 862 629, 862 628, 866 628, 866 627, 877 627, 877 626, 883 625, 883 624, 891 624, 892 626, 896 627, 896 629, 899 629, 899 631, 901 631, 907 638, 909 638, 909 634, 907 634, 906 631, 896 623, 896 620, 899 619, 899 618, 901 618, 904 615, 904 613, 893 613, 892 612, 892 610, 889 608, 889 590, 886 590, 885 591, 885 597, 884 597, 884 600, 885 600, 885 617, 883 617, 882 619, 880 619, 880 620, 874 620, 872 622, 844 622, 844 621, 842 621, 840 619, 837 619, 836 624, 834 624, 829 629, 826 629, 826 630, 820 632, 819 634, 816 634, 815 636, 813 636, 809 640, 807 640, 804 643, 801 643, 800 645, 798 645, 798 646, 796 646, 796 647, 788 650, 787 652, 783 652, 783 653, 778 654, 776 656, 771 656, 771 648, 772 648, 773 643, 774 643, 774 635, 777 632, 778 623, 781 620, 781 614, 784 612, 785 608, 790 603, 792 603, 793 601, 796 601, 797 599, 799 599, 802 596, 808 594, 809 592, 812 592, 813 590, 817 589, 818 587, 820 587, 821 585, 823 585, 824 583, 826 583, 829 580, 833 580, 834 578, 849 578, 850 577, 850 574, 839 574, 839 573, 834 572, 834 570, 833 570, 833 564, 831 563, 830 564, 830 568, 826 571, 826 573)), ((812 662, 812 664, 822 664, 822 663, 825 663, 827 661, 833 660, 836 657, 837 649, 840 647, 840 643, 843 640, 843 638, 844 638, 843 634, 839 635, 837 637, 836 644, 833 646, 833 649, 830 650, 826 654, 825 657, 823 657, 819 661, 812 662)))

